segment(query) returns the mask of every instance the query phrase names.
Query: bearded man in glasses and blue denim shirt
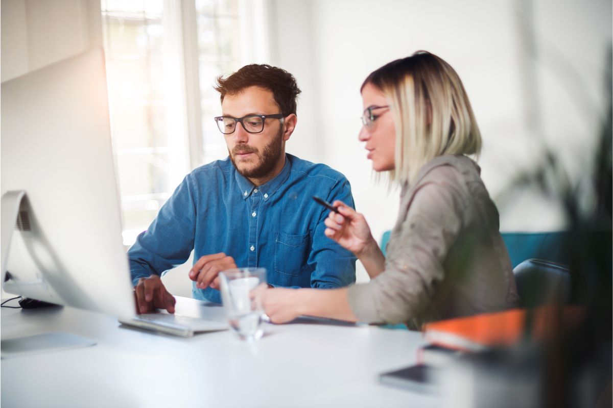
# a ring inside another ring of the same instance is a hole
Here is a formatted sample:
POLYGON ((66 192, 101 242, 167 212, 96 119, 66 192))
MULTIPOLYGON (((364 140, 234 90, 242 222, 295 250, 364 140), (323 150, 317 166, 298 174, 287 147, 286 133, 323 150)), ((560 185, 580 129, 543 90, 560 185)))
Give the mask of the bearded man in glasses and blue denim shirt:
POLYGON ((341 287, 356 279, 356 258, 324 236, 328 210, 311 198, 353 206, 349 182, 285 153, 297 122, 294 76, 253 64, 217 82, 223 116, 215 121, 229 157, 189 173, 128 251, 140 313, 174 313, 159 275, 192 249, 192 295, 210 302, 221 302, 218 273, 236 267, 265 267, 272 286, 341 287))

